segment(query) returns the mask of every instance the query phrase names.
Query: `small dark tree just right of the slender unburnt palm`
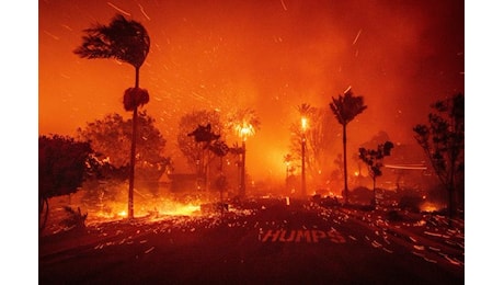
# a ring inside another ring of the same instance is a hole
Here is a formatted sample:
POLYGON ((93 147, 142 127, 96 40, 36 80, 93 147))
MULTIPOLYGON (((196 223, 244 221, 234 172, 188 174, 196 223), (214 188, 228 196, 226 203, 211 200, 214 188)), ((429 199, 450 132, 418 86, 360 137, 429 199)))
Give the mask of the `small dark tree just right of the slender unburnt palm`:
POLYGON ((393 144, 386 141, 385 144, 378 145, 376 149, 358 149, 358 158, 363 160, 368 168, 369 176, 373 179, 373 201, 371 205, 376 203, 376 179, 382 175, 381 168, 383 167, 383 158, 390 156, 390 150, 393 148, 393 144))

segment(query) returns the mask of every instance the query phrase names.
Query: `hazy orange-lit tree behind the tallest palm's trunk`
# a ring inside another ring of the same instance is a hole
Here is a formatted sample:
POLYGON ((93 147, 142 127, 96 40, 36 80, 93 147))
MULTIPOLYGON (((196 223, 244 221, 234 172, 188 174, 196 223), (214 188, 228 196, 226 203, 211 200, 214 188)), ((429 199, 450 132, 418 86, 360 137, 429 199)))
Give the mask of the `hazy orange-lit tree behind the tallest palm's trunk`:
MULTIPOLYGON (((156 121, 147 114, 139 112, 137 118, 137 176, 145 183, 157 182, 167 170, 172 169, 170 158, 162 155, 165 139, 154 125, 156 121)), ((102 119, 88 123, 84 128, 79 128, 80 140, 90 141, 96 151, 99 161, 106 161, 117 171, 113 179, 124 179, 123 170, 129 166, 129 147, 131 141, 131 119, 125 121, 119 114, 107 114, 102 119)), ((156 193, 154 187, 150 187, 156 193)))

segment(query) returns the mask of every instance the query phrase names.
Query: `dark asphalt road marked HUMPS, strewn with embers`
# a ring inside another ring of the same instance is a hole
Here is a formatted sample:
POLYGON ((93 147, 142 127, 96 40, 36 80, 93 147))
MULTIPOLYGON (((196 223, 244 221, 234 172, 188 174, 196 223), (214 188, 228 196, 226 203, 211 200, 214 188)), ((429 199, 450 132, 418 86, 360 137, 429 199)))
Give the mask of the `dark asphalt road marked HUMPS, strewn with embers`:
POLYGON ((262 201, 43 237, 38 274, 39 284, 463 284, 463 264, 428 249, 337 209, 262 201))

